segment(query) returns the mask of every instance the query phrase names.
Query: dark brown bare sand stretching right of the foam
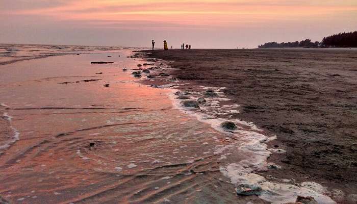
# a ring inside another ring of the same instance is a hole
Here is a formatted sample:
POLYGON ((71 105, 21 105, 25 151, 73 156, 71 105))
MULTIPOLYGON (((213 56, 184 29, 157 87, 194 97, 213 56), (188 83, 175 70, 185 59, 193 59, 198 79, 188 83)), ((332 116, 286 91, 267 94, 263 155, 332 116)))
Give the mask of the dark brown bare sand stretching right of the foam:
POLYGON ((277 136, 269 148, 287 152, 272 154, 269 162, 283 168, 262 174, 314 181, 331 191, 343 190, 346 197, 356 193, 356 49, 175 49, 147 53, 180 68, 170 74, 190 84, 179 89, 226 87, 223 91, 232 99, 230 103, 242 106, 234 117, 252 121, 266 134, 277 136))

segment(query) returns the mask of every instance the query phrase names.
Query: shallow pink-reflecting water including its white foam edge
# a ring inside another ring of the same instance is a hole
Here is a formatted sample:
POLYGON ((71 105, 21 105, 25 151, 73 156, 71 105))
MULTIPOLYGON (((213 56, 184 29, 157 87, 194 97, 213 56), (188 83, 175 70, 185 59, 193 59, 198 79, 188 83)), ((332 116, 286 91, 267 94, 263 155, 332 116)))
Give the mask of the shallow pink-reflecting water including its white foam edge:
POLYGON ((224 120, 212 117, 238 105, 220 108, 219 101, 226 100, 220 94, 207 99, 210 106, 184 109, 175 90, 150 88, 132 77, 130 69, 144 62, 127 58, 131 54, 119 50, 0 66, 5 199, 262 203, 256 196, 237 197, 234 189, 238 183, 259 183, 260 197, 273 203, 294 201, 299 194, 333 203, 310 187, 268 182, 256 174, 267 168, 271 153, 263 141, 271 138, 237 119, 239 129, 227 132, 219 126, 224 120))

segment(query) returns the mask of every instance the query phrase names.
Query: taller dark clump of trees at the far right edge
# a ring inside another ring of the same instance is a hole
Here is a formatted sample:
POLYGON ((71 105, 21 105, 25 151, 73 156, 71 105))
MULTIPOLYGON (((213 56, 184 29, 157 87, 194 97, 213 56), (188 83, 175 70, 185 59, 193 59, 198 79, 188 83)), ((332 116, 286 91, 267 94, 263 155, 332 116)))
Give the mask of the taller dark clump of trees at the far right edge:
POLYGON ((326 47, 357 47, 357 31, 324 37, 322 43, 326 47))

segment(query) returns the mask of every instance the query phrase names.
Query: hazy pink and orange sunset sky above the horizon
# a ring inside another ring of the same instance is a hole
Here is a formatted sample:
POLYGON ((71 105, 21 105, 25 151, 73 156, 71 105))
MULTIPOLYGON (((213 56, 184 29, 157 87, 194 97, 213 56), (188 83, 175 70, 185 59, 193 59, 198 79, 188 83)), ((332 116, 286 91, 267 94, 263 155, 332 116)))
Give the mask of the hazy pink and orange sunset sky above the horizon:
POLYGON ((356 0, 0 0, 0 43, 255 48, 357 30, 356 0))

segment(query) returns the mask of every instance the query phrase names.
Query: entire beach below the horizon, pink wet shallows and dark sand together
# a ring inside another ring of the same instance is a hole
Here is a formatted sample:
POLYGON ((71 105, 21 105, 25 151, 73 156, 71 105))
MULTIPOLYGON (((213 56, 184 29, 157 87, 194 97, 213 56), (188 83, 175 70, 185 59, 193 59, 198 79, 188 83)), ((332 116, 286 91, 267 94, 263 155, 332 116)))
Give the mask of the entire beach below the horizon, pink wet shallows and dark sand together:
POLYGON ((4 203, 355 202, 354 52, 85 48, 0 66, 4 203))

